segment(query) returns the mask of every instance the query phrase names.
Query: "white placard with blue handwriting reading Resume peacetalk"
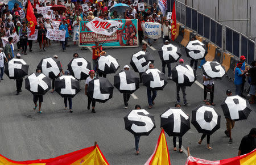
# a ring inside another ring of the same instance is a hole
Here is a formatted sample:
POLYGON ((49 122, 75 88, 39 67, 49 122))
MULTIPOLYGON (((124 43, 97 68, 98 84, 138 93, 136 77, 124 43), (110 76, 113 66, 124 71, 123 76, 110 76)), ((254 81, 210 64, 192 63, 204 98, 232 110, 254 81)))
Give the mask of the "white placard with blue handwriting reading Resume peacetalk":
POLYGON ((150 39, 158 39, 161 37, 162 31, 162 24, 154 23, 154 22, 145 22, 142 23, 142 29, 144 35, 150 39))

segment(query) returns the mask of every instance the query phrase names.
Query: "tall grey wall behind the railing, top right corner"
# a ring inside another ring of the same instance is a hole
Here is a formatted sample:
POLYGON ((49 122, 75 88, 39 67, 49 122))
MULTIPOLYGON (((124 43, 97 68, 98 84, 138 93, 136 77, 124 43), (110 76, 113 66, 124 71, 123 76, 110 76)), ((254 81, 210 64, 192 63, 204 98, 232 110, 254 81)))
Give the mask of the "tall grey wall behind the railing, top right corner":
MULTIPOLYGON (((219 19, 246 19, 247 12, 251 6, 251 33, 249 31, 250 23, 248 23, 247 35, 256 36, 256 0, 248 0, 249 7, 247 9, 247 0, 187 0, 187 5, 197 9, 205 15, 213 19, 218 19, 218 1, 220 2, 219 19)), ((185 4, 185 0, 180 0, 185 4)), ((250 17, 250 15, 249 15, 250 17)), ((224 26, 227 25, 238 32, 246 35, 246 21, 242 22, 220 22, 224 26)))

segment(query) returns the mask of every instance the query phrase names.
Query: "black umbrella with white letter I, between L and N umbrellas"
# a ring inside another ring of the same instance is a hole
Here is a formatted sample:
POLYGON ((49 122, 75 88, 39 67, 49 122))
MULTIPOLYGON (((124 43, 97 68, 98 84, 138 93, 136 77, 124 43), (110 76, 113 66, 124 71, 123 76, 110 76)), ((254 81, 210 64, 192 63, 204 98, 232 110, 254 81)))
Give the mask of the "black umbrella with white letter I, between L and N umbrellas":
POLYGON ((152 90, 163 90, 164 86, 168 83, 166 75, 158 69, 147 69, 141 77, 144 86, 152 90))

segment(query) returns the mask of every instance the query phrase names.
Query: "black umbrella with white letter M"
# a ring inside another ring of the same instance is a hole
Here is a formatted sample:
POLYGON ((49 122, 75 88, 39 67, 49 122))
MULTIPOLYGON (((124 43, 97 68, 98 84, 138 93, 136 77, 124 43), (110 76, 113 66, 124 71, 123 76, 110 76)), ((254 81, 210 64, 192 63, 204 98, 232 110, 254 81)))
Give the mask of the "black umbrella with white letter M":
POLYGON ((115 73, 120 67, 117 60, 110 55, 100 56, 100 58, 98 58, 96 61, 96 65, 98 71, 105 74, 115 73))

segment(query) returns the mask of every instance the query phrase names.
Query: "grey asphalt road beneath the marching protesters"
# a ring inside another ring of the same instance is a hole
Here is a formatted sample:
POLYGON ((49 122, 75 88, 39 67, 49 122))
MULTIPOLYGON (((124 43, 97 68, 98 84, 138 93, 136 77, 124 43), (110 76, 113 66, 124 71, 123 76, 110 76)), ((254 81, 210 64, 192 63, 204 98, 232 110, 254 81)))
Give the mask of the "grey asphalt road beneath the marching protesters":
MULTIPOLYGON (((22 58, 30 65, 30 73, 35 71, 36 66, 42 58, 51 57, 53 54, 59 56, 63 69, 67 69, 73 53, 79 53, 80 57, 85 57, 91 61, 92 53, 89 49, 80 50, 77 45, 69 41, 67 52, 62 52, 59 43, 53 43, 46 52, 40 52, 38 43, 33 43, 33 52, 28 53, 22 58)), ((159 39, 152 45, 158 50, 162 45, 159 39)), ((155 57, 155 67, 162 70, 162 64, 157 51, 147 48, 155 57)), ((118 59, 121 66, 130 63, 131 55, 141 50, 138 48, 111 48, 105 49, 107 54, 118 59)), ((15 50, 16 53, 16 50, 15 50)), ((183 55, 185 63, 189 59, 183 55)), ((175 64, 172 64, 174 67, 175 64)), ((119 69, 119 70, 120 70, 119 69)), ((166 68, 167 70, 167 68, 166 68)), ((166 71, 167 72, 167 71, 166 71)), ((114 74, 107 78, 113 83, 114 74)), ((64 111, 63 98, 56 92, 48 92, 44 95, 42 114, 33 110, 32 94, 24 88, 16 96, 15 81, 10 80, 4 75, 4 80, 0 83, 0 154, 14 160, 47 159, 59 155, 67 154, 72 151, 83 149, 98 142, 102 153, 110 164, 144 164, 153 153, 160 133, 160 114, 169 106, 174 106, 176 101, 176 86, 168 80, 167 86, 163 91, 158 91, 154 108, 148 109, 146 87, 142 84, 134 92, 138 99, 130 98, 129 109, 123 109, 122 94, 114 88, 113 98, 105 104, 96 104, 96 113, 90 113, 86 109, 87 98, 84 95, 85 81, 81 81, 82 91, 73 99, 73 113, 64 111), (123 117, 127 115, 135 104, 140 104, 142 108, 155 116, 156 128, 150 136, 141 137, 139 147, 140 154, 135 155, 134 137, 125 130, 123 117)), ((202 71, 197 70, 198 84, 194 83, 187 87, 187 100, 191 104, 184 107, 184 111, 191 115, 192 109, 203 103, 202 71)), ((201 134, 191 124, 191 129, 183 136, 183 146, 189 147, 192 156, 209 160, 220 160, 237 156, 238 147, 243 136, 249 133, 250 129, 256 125, 255 105, 251 106, 253 112, 247 120, 237 121, 232 130, 233 143, 229 144, 229 138, 225 137, 224 130, 225 117, 220 104, 225 99, 225 91, 230 88, 235 90, 234 84, 228 78, 216 81, 214 91, 214 103, 216 109, 221 114, 221 128, 218 129, 210 138, 210 146, 213 150, 206 149, 206 139, 201 146, 197 145, 201 134)), ((208 95, 209 97, 209 95, 208 95)), ((173 151, 172 137, 167 137, 168 149, 170 150, 171 164, 185 164, 187 155, 173 151)))

